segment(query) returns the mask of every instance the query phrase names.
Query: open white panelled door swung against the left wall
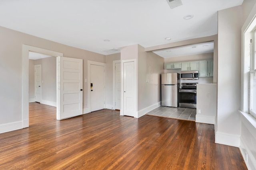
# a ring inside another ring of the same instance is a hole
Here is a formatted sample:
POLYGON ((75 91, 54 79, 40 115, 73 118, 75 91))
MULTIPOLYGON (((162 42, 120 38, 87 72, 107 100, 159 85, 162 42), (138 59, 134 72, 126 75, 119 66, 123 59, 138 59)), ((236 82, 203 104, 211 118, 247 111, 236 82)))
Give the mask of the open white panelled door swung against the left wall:
POLYGON ((83 60, 68 57, 59 59, 59 90, 57 119, 82 115, 83 60))

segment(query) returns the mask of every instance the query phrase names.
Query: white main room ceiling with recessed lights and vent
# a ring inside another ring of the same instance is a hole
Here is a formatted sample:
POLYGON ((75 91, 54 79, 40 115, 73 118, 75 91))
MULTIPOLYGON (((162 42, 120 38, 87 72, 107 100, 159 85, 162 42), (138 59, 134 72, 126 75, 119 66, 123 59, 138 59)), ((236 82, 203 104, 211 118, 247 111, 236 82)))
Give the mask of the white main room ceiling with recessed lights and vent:
POLYGON ((103 55, 217 34, 217 11, 243 0, 0 0, 0 26, 103 55), (193 15, 190 20, 184 16, 193 15), (166 40, 170 37, 170 40, 166 40), (109 40, 105 42, 104 40, 109 40), (118 49, 104 52, 104 49, 118 49))

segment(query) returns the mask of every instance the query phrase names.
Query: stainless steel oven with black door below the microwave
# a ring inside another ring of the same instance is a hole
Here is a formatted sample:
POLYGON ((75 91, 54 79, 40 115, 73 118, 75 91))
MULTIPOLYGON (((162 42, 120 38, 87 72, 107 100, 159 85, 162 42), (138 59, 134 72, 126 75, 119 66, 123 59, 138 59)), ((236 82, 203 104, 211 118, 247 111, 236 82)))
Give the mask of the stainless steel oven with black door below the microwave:
POLYGON ((196 84, 182 83, 181 89, 179 89, 180 107, 196 108, 196 84))

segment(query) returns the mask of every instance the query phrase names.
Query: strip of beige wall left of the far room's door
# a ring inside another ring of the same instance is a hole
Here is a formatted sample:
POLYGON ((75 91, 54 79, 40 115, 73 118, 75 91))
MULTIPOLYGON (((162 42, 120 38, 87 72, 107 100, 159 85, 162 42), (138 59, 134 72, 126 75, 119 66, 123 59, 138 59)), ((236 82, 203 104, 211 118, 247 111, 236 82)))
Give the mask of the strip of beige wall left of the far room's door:
POLYGON ((35 71, 34 71, 34 60, 29 60, 29 99, 34 100, 35 99, 35 71))

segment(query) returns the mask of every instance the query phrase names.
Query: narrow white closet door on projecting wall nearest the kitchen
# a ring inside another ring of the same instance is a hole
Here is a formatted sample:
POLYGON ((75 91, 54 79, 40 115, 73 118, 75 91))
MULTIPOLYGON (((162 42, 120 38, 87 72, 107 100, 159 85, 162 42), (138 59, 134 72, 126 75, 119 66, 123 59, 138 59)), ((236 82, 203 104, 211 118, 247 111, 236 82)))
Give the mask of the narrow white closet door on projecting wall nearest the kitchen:
POLYGON ((124 63, 124 115, 135 116, 134 62, 124 63))

